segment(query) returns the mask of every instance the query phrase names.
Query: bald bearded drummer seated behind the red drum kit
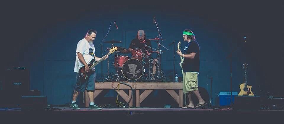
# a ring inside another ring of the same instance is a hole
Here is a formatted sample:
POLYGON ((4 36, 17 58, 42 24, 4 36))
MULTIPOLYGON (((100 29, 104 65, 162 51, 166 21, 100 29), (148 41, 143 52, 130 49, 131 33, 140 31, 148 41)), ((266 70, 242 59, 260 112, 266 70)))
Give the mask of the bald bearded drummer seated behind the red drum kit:
MULTIPOLYGON (((152 46, 151 42, 147 40, 144 30, 138 30, 137 37, 131 41, 128 50, 132 51, 133 49, 138 48, 142 50, 142 53, 145 53, 146 50, 148 51, 148 47, 145 47, 145 44, 150 47, 152 46), (146 43, 143 43, 143 42, 146 42, 146 43)), ((158 62, 156 58, 154 60, 158 62)), ((153 75, 151 79, 154 80, 154 75, 156 74, 156 64, 155 62, 152 62, 152 63, 153 63, 153 72, 152 72, 153 75)))

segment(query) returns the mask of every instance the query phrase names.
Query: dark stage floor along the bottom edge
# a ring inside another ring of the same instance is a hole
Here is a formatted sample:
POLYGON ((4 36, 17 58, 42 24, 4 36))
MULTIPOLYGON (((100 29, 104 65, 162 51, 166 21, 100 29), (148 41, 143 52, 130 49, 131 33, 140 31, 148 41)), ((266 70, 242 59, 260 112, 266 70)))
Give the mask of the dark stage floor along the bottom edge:
POLYGON ((103 108, 92 110, 49 107, 43 111, 0 108, 6 123, 284 123, 284 110, 182 108, 103 108))

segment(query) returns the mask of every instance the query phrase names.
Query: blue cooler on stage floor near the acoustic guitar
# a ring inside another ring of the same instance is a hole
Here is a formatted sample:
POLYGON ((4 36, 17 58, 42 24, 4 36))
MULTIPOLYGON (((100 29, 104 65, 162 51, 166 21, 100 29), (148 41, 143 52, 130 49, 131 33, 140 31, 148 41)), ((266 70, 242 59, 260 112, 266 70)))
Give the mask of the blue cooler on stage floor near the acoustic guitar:
MULTIPOLYGON (((235 100, 234 98, 237 95, 238 95, 238 92, 232 92, 233 104, 234 104, 234 100, 235 100)), ((230 103, 231 103, 231 92, 220 92, 218 94, 218 96, 219 96, 219 100, 220 100, 219 101, 220 106, 230 105, 230 103)))

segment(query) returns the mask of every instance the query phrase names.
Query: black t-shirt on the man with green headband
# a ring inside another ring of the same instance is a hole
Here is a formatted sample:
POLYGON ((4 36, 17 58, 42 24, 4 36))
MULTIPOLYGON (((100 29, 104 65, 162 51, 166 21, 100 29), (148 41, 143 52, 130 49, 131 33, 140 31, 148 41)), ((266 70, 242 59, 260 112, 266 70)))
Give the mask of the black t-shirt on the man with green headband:
POLYGON ((183 61, 183 72, 198 72, 200 65, 200 48, 197 41, 190 41, 184 48, 184 54, 196 53, 193 59, 185 58, 183 61))

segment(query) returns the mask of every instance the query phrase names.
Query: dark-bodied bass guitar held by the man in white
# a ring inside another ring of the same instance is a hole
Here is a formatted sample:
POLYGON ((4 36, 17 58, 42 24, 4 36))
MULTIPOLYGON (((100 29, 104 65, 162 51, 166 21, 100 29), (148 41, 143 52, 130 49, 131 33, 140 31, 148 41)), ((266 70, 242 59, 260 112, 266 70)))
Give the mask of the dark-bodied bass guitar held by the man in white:
MULTIPOLYGON (((112 49, 109 50, 109 53, 107 55, 110 55, 112 54, 114 51, 117 50, 117 47, 114 47, 112 49)), ((89 70, 91 70, 92 68, 94 68, 96 65, 98 65, 101 61, 103 61, 104 59, 100 59, 99 61, 97 62, 94 62, 95 59, 92 59, 91 62, 89 62, 88 66, 89 66, 89 70)), ((83 78, 84 80, 88 78, 87 76, 87 72, 85 71, 85 66, 83 67, 80 67, 79 69, 79 75, 81 78, 83 78)))

